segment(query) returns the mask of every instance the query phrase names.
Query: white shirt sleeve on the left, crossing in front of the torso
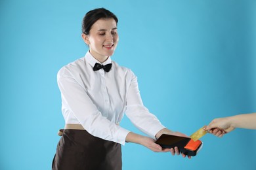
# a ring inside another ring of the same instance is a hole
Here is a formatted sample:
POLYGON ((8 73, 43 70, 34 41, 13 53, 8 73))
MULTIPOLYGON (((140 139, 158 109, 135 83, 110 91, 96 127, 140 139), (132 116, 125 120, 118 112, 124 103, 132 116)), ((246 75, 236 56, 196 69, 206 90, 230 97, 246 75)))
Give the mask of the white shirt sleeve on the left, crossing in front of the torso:
POLYGON ((62 102, 68 105, 75 118, 91 135, 125 144, 129 131, 102 116, 86 90, 71 75, 59 71, 57 80, 62 102))

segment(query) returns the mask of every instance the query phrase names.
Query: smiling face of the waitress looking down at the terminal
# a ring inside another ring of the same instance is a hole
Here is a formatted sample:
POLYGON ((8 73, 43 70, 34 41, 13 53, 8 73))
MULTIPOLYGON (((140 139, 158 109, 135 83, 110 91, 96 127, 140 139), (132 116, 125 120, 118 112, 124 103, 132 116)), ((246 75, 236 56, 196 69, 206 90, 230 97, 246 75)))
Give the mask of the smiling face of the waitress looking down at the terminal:
POLYGON ((106 61, 116 49, 119 37, 116 21, 113 18, 100 19, 92 25, 89 35, 82 35, 89 45, 90 53, 100 62, 106 61))

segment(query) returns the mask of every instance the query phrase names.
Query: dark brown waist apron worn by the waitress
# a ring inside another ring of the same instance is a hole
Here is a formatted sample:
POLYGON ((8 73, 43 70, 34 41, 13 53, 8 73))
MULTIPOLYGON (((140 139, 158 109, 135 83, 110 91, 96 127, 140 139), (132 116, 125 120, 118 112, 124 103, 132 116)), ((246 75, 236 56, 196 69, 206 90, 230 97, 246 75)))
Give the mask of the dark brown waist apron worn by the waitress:
POLYGON ((53 170, 121 170, 121 144, 81 129, 64 129, 61 135, 53 170))

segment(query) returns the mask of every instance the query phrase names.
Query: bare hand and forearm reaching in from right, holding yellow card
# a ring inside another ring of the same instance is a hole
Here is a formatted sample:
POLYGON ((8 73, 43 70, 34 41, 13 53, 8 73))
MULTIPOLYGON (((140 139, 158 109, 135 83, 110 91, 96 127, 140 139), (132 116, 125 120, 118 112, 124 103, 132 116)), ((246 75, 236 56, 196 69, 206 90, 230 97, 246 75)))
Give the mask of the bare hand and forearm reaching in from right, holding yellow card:
POLYGON ((223 137, 225 133, 228 133, 235 128, 256 129, 256 112, 215 118, 207 127, 205 127, 205 130, 209 130, 209 133, 212 133, 217 137, 223 137))

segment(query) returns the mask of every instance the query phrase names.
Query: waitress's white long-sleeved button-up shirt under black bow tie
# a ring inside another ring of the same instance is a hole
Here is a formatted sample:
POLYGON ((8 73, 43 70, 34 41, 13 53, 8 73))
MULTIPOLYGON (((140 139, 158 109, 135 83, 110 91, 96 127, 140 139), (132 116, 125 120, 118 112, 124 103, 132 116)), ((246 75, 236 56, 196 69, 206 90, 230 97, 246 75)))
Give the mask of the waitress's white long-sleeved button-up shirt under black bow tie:
POLYGON ((90 52, 58 71, 58 87, 62 97, 62 114, 66 124, 81 124, 91 135, 125 144, 129 130, 120 127, 124 113, 140 131, 153 137, 165 128, 144 107, 137 77, 109 57, 111 70, 93 71, 99 63, 90 52))

